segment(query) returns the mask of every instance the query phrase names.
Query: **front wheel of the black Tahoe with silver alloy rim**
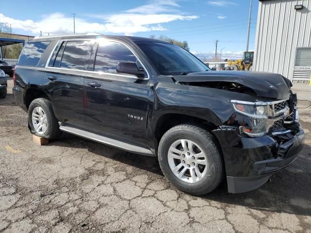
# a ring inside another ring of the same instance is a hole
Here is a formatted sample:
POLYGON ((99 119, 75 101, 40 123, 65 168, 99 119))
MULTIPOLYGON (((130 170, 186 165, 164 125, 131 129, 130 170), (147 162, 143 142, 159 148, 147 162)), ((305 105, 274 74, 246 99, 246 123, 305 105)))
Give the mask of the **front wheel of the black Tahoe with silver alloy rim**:
POLYGON ((211 133, 193 125, 177 125, 162 136, 158 147, 158 160, 162 172, 169 182, 185 193, 199 196, 213 191, 223 180, 224 167, 220 151, 218 143, 211 133), (192 151, 196 150, 195 153, 185 153, 184 146, 182 144, 177 145, 179 141, 182 143, 184 139, 186 141, 184 145, 189 149, 186 151, 190 151, 189 146, 194 144, 191 148, 192 151), (172 153, 174 149, 182 152, 180 156, 177 155, 179 152, 172 153), (202 160, 203 155, 200 151, 205 154, 205 160, 202 160), (183 157, 184 154, 185 157, 183 157), (199 154, 202 156, 197 159, 196 157, 199 157, 199 154), (203 164, 202 161, 206 165, 199 164, 203 164), (175 174, 171 166, 176 167, 173 169, 175 174), (177 170, 178 166, 180 166, 179 170, 177 170), (195 168, 196 166, 197 168, 195 168), (177 173, 180 171, 178 174, 180 175, 185 169, 187 170, 184 175, 178 178, 177 173), (196 169, 199 169, 199 172, 196 169))

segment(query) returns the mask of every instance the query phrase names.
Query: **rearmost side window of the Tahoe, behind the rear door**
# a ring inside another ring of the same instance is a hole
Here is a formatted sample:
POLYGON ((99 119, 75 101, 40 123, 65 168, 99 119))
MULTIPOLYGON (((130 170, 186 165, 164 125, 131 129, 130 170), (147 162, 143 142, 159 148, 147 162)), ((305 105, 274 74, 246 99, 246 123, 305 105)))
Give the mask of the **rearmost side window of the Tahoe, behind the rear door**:
POLYGON ((21 51, 17 65, 35 67, 49 44, 50 41, 27 43, 21 51))

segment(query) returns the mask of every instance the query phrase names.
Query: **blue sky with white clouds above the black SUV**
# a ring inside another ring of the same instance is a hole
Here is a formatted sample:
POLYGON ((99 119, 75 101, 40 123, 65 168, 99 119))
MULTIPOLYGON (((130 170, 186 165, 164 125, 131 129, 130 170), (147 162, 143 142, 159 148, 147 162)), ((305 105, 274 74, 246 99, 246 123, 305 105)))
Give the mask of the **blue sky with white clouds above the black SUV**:
MULTIPOLYGON (((249 0, 0 0, 0 23, 13 33, 38 35, 98 32, 187 40, 190 51, 212 57, 215 41, 223 58, 245 50, 249 0), (50 2, 50 3, 49 3, 50 2), (52 3, 51 3, 52 2, 52 3)), ((254 49, 258 1, 253 0, 249 49, 254 49)))

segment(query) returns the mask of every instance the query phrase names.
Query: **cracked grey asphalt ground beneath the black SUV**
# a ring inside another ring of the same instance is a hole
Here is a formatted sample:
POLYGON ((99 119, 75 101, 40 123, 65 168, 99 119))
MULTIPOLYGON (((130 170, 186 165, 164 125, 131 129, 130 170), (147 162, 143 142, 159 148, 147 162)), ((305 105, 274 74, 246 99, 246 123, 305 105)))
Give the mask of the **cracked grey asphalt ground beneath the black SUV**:
MULTIPOLYGON (((153 157, 67 133, 36 145, 11 88, 9 80, 0 100, 0 232, 311 233, 310 107, 300 109, 304 150, 271 182, 244 194, 223 183, 194 197, 171 186, 153 157)), ((311 86, 294 90, 311 100, 311 86)))

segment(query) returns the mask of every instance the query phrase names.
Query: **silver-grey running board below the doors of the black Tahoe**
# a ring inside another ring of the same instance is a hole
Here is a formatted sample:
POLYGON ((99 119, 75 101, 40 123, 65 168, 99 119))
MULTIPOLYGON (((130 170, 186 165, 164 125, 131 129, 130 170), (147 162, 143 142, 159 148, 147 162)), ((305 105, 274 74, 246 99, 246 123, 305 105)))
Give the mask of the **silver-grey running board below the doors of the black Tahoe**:
POLYGON ((108 146, 116 147, 116 148, 126 150, 132 153, 154 156, 154 154, 148 149, 134 146, 134 145, 121 142, 121 141, 118 141, 112 138, 108 138, 108 137, 99 135, 97 133, 92 133, 92 132, 88 132, 85 130, 81 130, 81 129, 78 129, 78 128, 75 128, 69 125, 60 124, 59 129, 66 133, 71 133, 77 136, 81 136, 86 139, 90 139, 92 141, 99 142, 99 143, 102 143, 108 146))

